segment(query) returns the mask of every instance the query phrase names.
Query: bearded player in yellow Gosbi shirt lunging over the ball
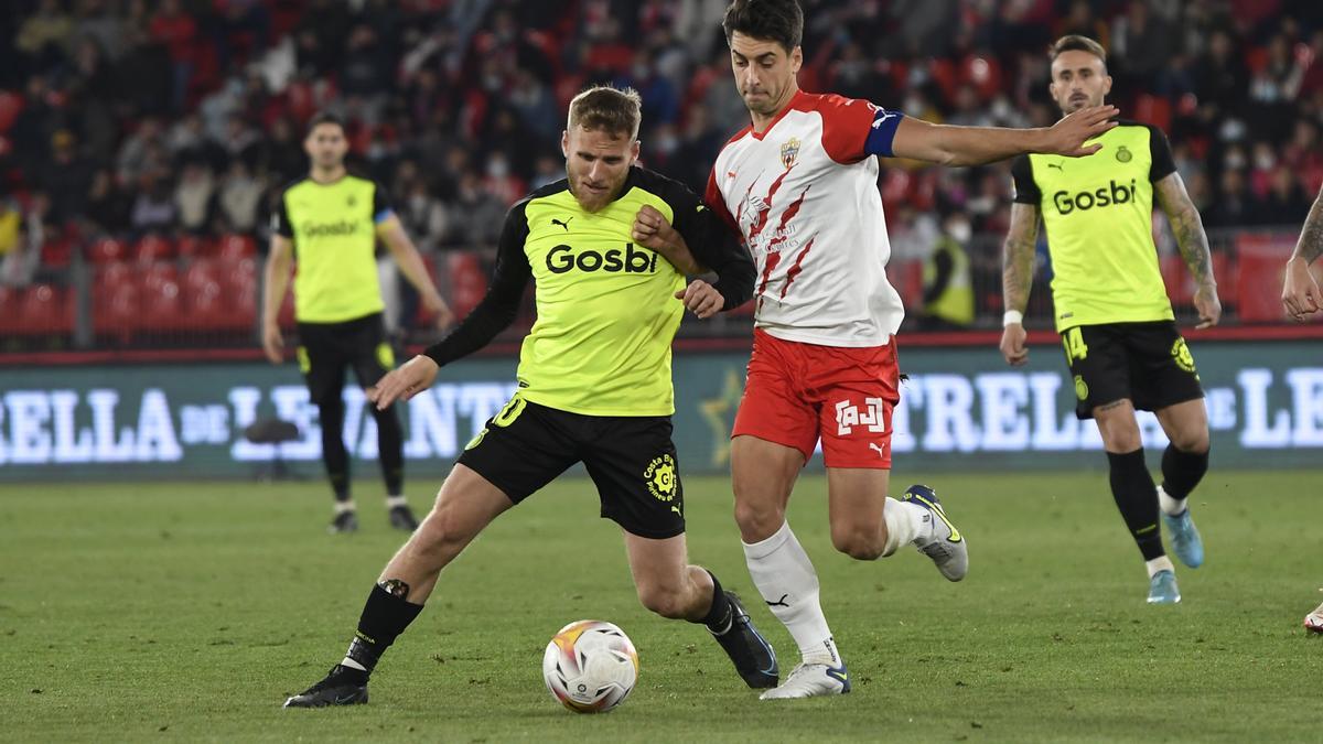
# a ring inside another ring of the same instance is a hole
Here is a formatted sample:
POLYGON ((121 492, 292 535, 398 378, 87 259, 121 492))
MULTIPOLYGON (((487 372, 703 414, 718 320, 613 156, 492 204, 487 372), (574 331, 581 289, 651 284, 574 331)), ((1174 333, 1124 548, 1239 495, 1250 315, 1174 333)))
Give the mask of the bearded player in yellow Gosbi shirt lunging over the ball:
POLYGON ((519 392, 468 443, 431 512, 382 571, 345 658, 286 707, 365 703, 368 675, 422 612, 442 569, 496 516, 578 462, 598 487, 602 516, 622 528, 639 601, 705 625, 750 687, 777 684, 771 646, 738 598, 688 563, 671 441, 680 318, 685 308, 710 318, 746 302, 753 259, 695 193, 635 167, 639 109, 636 93, 611 87, 570 102, 569 177, 511 208, 487 297, 369 393, 386 409, 425 389, 441 365, 509 326, 534 282, 537 322, 524 339, 519 392), (663 256, 681 253, 718 278, 685 286, 663 256))

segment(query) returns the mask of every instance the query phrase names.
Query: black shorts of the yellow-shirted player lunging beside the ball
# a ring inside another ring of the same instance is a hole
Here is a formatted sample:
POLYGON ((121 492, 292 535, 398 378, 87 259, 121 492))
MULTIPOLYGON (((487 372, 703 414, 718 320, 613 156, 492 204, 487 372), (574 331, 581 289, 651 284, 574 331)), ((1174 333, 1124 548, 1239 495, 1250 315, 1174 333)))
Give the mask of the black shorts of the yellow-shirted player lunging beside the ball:
POLYGON ((602 516, 640 537, 684 532, 684 488, 669 416, 583 416, 516 395, 459 462, 519 503, 582 462, 602 516))

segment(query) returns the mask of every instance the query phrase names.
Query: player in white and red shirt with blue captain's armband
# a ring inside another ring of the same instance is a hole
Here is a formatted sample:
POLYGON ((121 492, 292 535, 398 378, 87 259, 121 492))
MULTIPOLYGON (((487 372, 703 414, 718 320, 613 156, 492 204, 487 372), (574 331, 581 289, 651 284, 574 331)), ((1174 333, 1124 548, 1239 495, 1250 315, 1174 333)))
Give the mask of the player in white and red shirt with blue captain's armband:
POLYGON ((763 698, 848 692, 818 576, 786 523, 790 491, 818 441, 836 549, 873 560, 913 544, 951 581, 968 564, 964 539, 931 488, 886 495, 900 400, 894 334, 905 310, 886 281, 875 156, 943 165, 1023 152, 1082 156, 1097 150, 1085 140, 1111 128, 1117 111, 1088 109, 1040 130, 934 126, 799 90, 795 0, 734 0, 722 26, 751 123, 717 156, 706 201, 758 265, 753 357, 730 449, 736 520, 753 581, 802 654, 763 698))

